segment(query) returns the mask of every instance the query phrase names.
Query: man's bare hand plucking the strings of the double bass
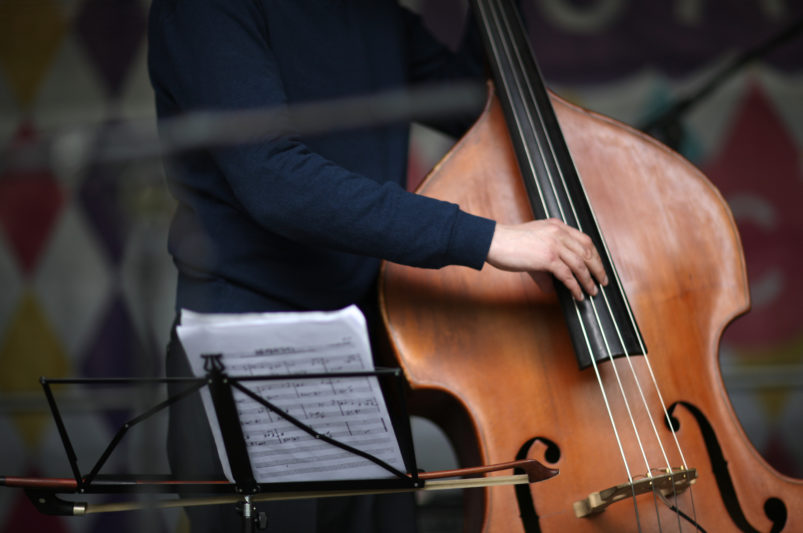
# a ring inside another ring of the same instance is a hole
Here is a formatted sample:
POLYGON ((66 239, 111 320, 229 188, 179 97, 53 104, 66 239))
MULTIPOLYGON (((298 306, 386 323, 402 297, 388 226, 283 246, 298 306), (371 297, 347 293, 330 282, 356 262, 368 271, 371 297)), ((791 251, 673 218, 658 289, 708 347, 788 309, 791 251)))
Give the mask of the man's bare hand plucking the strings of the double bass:
POLYGON ((539 275, 551 273, 576 300, 583 289, 597 294, 597 285, 608 284, 602 260, 591 238, 560 220, 534 220, 524 224, 497 224, 486 260, 496 268, 529 272, 539 285, 539 275), (582 287, 582 288, 581 288, 582 287))

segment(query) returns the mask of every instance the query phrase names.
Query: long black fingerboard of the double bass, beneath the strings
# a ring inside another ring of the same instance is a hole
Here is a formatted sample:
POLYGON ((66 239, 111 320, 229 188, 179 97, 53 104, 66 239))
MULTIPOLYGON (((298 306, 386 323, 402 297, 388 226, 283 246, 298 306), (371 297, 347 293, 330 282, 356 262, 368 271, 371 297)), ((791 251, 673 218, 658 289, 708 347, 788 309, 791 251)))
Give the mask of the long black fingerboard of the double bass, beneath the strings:
POLYGON ((580 368, 591 358, 642 355, 644 342, 583 183, 563 138, 527 32, 512 0, 472 0, 499 101, 536 218, 558 218, 589 235, 609 283, 576 301, 555 283, 580 368))

